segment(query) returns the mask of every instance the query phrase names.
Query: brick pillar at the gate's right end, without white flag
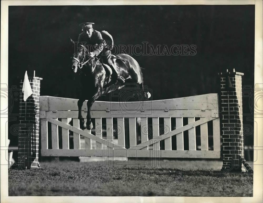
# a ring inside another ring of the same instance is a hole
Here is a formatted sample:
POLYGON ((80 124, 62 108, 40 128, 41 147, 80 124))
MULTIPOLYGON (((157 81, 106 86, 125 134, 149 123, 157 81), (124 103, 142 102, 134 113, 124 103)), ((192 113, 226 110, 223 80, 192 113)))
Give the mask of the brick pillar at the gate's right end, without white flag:
POLYGON ((220 130, 221 156, 224 172, 241 172, 244 162, 242 115, 242 76, 244 73, 219 73, 220 77, 220 130))

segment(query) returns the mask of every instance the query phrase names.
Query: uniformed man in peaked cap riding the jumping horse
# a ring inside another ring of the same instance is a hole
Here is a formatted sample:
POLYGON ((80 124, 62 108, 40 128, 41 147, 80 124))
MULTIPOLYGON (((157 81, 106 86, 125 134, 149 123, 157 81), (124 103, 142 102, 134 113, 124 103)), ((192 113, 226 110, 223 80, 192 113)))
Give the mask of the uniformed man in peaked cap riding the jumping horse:
POLYGON ((122 85, 125 82, 125 80, 122 76, 119 75, 117 68, 110 59, 112 55, 111 51, 104 46, 104 40, 102 39, 102 35, 99 31, 93 29, 93 24, 94 23, 81 23, 79 25, 80 27, 82 27, 83 32, 79 34, 78 42, 82 43, 86 47, 90 46, 88 49, 89 51, 92 51, 89 52, 90 57, 100 55, 100 57, 103 59, 103 62, 107 63, 112 69, 112 83, 115 84, 118 81, 122 85))

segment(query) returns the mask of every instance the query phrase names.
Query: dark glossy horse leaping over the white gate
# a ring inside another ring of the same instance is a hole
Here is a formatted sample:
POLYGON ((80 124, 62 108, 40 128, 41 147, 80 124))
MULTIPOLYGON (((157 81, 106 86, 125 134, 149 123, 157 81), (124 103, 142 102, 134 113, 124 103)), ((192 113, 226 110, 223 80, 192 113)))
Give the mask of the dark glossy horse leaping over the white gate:
MULTIPOLYGON (((71 40, 72 43, 74 43, 71 40)), ((107 86, 109 82, 110 74, 105 71, 105 68, 100 62, 99 58, 96 56, 90 57, 88 49, 80 45, 82 48, 78 50, 78 53, 74 53, 72 57, 72 70, 74 73, 79 71, 80 74, 80 83, 81 83, 81 92, 82 94, 78 98, 78 119, 80 128, 85 130, 91 130, 93 124, 91 121, 90 110, 92 104, 97 100, 101 95, 105 95, 109 92, 116 90, 115 85, 107 86), (82 117, 82 105, 85 100, 87 101, 87 122, 85 124, 82 117)), ((118 54, 114 57, 114 63, 116 68, 119 71, 120 76, 122 76, 126 81, 129 79, 132 83, 136 83, 140 90, 143 92, 143 97, 145 100, 150 98, 150 93, 144 91, 143 87, 143 75, 141 72, 141 67, 139 63, 131 56, 127 54, 118 54)), ((125 86, 120 85, 117 89, 121 89, 125 86)), ((116 84, 118 85, 118 84, 116 84)))

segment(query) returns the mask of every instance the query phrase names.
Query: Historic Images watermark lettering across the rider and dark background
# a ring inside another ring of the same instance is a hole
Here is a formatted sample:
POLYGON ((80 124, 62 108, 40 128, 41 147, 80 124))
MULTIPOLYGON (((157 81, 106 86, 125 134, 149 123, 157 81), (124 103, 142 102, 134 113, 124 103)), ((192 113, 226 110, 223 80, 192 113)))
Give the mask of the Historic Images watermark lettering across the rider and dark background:
MULTIPOLYGON (((98 44, 93 46, 82 43, 87 50, 94 50, 97 48, 98 44)), ((78 54, 79 49, 82 49, 79 42, 75 42, 75 54, 78 54)), ((107 45, 106 45, 107 46, 107 45)), ((128 54, 130 56, 195 56, 196 45, 195 44, 149 44, 149 42, 142 42, 141 44, 120 44, 108 46, 113 55, 116 54, 128 54)), ((103 54, 103 53, 102 53, 103 54)))

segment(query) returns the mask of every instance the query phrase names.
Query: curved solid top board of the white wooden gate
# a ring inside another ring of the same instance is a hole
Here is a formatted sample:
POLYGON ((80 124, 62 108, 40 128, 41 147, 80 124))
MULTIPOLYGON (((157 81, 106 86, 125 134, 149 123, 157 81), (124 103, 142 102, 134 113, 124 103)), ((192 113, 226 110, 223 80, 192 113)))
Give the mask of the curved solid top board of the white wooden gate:
MULTIPOLYGON (((43 96, 42 96, 43 98, 43 96)), ((77 99, 61 98, 61 97, 51 97, 48 96, 48 110, 49 111, 78 111, 77 99), (63 105, 61 105, 63 104, 63 105)), ((43 103, 43 102, 42 102, 43 103)), ((86 103, 86 102, 85 102, 86 103)), ((101 102, 95 101, 93 103, 92 109, 99 110, 107 109, 110 110, 120 110, 124 105, 129 110, 135 110, 142 102, 101 102)), ((42 107, 42 106, 41 106, 42 107)), ((218 95, 217 94, 205 94, 196 95, 183 98, 174 98, 168 100, 158 100, 158 101, 145 101, 143 102, 144 110, 164 110, 165 107, 170 110, 200 110, 200 109, 216 109, 218 110, 218 95), (174 105, 176 104, 176 105, 174 105)), ((44 107, 45 108, 45 107, 44 107)), ((41 111, 44 109, 41 108, 41 111)), ((82 111, 86 110, 85 105, 82 106, 82 111)))

